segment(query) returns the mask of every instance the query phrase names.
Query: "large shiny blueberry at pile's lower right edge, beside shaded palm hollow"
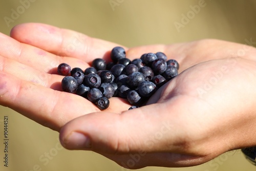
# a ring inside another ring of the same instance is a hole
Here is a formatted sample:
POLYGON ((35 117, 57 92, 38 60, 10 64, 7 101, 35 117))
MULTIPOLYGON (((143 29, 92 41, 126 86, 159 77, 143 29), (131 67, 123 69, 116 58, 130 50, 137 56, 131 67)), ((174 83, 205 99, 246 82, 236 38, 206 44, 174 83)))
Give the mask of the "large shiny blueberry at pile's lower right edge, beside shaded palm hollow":
POLYGON ((151 81, 143 81, 138 86, 139 94, 142 97, 150 97, 156 91, 156 85, 151 81))

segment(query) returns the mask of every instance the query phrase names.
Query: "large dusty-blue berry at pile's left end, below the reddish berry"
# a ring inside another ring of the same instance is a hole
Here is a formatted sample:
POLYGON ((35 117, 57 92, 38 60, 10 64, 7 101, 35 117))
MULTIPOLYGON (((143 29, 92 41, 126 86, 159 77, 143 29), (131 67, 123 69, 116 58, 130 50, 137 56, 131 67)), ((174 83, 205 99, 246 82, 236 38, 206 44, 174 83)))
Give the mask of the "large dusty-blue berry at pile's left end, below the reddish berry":
POLYGON ((61 80, 62 90, 69 93, 75 93, 78 87, 77 80, 72 76, 65 76, 61 80))

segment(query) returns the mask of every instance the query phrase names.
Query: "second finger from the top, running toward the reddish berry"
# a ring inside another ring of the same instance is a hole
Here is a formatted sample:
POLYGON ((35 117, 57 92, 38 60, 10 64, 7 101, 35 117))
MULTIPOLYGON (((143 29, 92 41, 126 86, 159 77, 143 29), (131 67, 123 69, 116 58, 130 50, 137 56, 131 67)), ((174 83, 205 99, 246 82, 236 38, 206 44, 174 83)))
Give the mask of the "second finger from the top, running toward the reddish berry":
POLYGON ((57 67, 62 62, 68 63, 72 68, 86 69, 89 67, 88 63, 83 60, 57 56, 31 45, 22 44, 2 33, 0 33, 0 42, 1 56, 17 60, 39 71, 56 74, 57 67))

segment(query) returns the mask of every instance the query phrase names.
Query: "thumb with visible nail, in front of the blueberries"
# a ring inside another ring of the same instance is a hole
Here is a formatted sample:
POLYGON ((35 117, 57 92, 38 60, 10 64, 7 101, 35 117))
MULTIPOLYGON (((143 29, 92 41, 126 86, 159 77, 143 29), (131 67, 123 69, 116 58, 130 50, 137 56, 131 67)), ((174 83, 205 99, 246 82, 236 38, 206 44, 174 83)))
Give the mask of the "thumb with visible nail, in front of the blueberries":
POLYGON ((61 144, 67 149, 100 154, 169 151, 169 139, 177 132, 171 131, 176 125, 170 124, 170 115, 165 115, 168 108, 163 105, 155 103, 121 114, 98 112, 78 117, 62 127, 61 144))

